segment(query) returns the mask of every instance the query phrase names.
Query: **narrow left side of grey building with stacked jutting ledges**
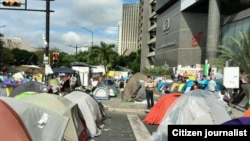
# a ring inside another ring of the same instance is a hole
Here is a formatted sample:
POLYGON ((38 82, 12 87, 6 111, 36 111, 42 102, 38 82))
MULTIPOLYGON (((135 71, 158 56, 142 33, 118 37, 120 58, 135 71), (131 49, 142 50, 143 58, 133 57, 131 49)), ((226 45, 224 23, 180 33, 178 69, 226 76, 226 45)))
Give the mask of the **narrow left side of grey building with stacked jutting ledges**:
POLYGON ((141 68, 155 64, 157 14, 156 0, 140 0, 138 48, 141 48, 141 68))

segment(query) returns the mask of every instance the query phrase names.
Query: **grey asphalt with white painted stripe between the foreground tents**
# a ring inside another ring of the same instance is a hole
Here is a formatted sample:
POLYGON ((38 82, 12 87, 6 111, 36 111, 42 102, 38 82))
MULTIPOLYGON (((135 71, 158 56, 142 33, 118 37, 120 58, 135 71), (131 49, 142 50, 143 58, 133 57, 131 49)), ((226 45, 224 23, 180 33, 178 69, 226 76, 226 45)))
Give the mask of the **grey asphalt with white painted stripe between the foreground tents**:
POLYGON ((144 137, 143 140, 146 141, 150 140, 150 138, 145 138, 145 136, 147 136, 147 132, 144 134, 145 130, 143 130, 140 123, 144 125, 150 135, 152 132, 156 131, 158 127, 158 125, 148 125, 142 122, 146 113, 136 115, 134 113, 106 111, 106 116, 107 119, 104 120, 105 126, 102 129, 102 134, 98 137, 90 139, 90 141, 137 141, 141 137, 144 137), (133 116, 138 116, 141 122, 135 121, 136 123, 133 122, 134 125, 131 126, 131 121, 128 119, 128 117, 131 116, 132 119, 133 116), (139 129, 136 127, 139 127, 139 129), (140 131, 136 132, 137 130, 135 129, 140 131))

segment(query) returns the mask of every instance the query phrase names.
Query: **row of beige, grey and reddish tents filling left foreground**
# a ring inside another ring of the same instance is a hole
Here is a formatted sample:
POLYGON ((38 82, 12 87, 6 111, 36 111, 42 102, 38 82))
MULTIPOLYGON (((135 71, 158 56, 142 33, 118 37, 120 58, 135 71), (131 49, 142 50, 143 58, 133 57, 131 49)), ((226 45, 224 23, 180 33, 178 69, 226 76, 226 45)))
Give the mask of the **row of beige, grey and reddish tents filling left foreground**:
POLYGON ((9 113, 1 118, 1 128, 8 127, 0 133, 0 140, 15 140, 22 133, 26 139, 19 140, 87 141, 101 134, 105 113, 98 101, 82 91, 60 96, 44 92, 46 88, 31 81, 16 87, 9 96, 0 96, 0 110, 4 110, 0 112, 9 113), (10 119, 18 124, 10 126, 10 119), (16 136, 6 134, 16 130, 16 136))

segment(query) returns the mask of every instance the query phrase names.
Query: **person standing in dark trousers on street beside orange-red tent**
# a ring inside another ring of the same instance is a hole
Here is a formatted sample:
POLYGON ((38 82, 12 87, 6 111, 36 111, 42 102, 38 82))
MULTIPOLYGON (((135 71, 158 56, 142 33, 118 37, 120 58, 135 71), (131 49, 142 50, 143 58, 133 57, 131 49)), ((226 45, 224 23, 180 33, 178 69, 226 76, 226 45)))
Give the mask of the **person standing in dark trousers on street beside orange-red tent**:
POLYGON ((145 83, 145 87, 146 87, 147 109, 151 109, 154 106, 153 89, 155 88, 155 83, 150 75, 147 76, 147 81, 145 83))

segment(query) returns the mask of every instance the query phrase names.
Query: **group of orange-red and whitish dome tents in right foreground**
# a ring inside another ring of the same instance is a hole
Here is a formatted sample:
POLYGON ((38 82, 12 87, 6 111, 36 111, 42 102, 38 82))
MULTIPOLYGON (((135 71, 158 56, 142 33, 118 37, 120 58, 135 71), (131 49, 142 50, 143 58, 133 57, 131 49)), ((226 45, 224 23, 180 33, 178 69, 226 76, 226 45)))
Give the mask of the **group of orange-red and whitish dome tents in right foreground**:
POLYGON ((250 109, 233 118, 229 107, 206 90, 166 94, 149 111, 143 122, 158 124, 151 140, 168 141, 168 125, 249 125, 250 109))

